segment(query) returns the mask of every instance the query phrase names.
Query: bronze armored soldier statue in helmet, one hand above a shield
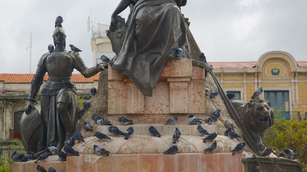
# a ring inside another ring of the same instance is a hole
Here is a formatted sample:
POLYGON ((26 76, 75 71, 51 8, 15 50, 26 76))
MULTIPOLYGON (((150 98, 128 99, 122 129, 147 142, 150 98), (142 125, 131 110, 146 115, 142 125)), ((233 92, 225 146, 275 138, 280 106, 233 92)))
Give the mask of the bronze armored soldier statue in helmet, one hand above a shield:
MULTIPOLYGON (((87 68, 77 53, 65 50, 66 34, 62 22, 63 20, 56 21, 52 35, 55 49, 43 54, 38 62, 37 71, 31 82, 29 103, 25 107, 25 114, 31 113, 31 110, 34 109, 34 103, 37 103, 36 95, 47 72, 49 79, 41 91, 43 140, 40 141, 44 142, 45 147, 47 143, 53 143, 58 149, 64 146, 67 138, 73 136, 78 121, 76 112, 79 110, 79 103, 76 87, 70 80, 73 70, 77 69, 84 77, 88 78, 104 69, 101 63, 87 68)), ((29 128, 27 122, 24 122, 21 128, 29 128)))

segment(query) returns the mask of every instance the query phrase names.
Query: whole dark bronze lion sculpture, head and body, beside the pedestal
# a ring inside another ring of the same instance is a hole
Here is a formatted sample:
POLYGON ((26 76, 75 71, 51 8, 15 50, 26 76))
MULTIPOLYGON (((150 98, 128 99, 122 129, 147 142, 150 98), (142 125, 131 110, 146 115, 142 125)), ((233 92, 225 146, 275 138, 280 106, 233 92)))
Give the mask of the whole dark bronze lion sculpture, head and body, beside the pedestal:
POLYGON ((265 149, 262 144, 263 133, 274 124, 274 112, 271 102, 255 97, 249 102, 232 100, 231 104, 237 111, 247 131, 253 137, 260 151, 265 149))

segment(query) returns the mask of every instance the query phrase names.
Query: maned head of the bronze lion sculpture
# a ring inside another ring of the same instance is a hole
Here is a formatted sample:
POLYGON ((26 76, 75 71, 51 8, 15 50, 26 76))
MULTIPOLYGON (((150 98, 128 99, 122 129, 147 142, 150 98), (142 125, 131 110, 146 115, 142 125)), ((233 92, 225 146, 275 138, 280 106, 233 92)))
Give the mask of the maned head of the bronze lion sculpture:
POLYGON ((244 106, 241 120, 246 128, 263 133, 274 124, 274 112, 271 102, 255 97, 244 106))

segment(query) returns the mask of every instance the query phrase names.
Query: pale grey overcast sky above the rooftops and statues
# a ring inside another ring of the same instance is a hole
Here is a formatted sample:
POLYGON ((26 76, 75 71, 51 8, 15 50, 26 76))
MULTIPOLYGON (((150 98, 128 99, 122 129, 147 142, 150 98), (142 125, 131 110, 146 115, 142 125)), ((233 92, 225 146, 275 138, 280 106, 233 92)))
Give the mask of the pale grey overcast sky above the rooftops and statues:
MULTIPOLYGON (((29 73, 32 32, 32 73, 53 44, 57 16, 64 19, 69 44, 92 66, 88 16, 110 24, 120 0, 1 0, 0 73, 29 73)), ((307 60, 306 0, 188 0, 181 8, 208 62, 257 61, 268 51, 286 51, 297 61, 307 60)), ((122 13, 127 18, 129 10, 122 13)))

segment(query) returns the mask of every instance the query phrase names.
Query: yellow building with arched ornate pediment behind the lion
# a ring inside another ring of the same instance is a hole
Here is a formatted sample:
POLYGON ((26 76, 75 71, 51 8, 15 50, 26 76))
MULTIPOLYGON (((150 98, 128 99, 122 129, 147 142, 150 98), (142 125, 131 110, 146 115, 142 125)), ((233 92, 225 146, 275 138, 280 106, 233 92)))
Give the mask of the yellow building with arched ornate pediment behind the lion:
MULTIPOLYGON (((257 62, 209 62, 226 93, 249 101, 255 90, 272 107, 282 110, 280 117, 307 120, 307 61, 295 61, 283 51, 263 54, 257 62)), ((280 118, 278 117, 278 118, 280 118)))

